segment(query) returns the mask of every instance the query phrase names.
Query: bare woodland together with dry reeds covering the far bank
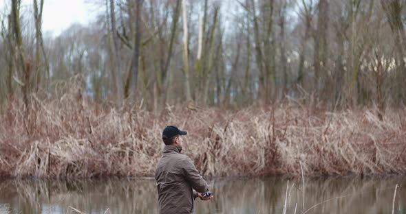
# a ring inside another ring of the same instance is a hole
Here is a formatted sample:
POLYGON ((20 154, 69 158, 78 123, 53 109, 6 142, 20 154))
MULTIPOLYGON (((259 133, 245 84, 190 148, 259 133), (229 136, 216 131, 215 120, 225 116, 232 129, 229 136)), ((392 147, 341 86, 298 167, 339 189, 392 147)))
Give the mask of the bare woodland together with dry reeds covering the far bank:
POLYGON ((151 176, 172 123, 206 176, 405 173, 405 1, 44 1, 0 15, 3 176, 151 176))

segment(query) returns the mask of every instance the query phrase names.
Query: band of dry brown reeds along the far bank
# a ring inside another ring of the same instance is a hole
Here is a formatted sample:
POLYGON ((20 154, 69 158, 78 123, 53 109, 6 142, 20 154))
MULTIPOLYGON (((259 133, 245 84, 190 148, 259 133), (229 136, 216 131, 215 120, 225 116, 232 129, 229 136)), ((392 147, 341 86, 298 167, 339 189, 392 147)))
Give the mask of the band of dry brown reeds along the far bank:
POLYGON ((406 112, 374 108, 329 112, 293 102, 241 110, 166 106, 116 110, 66 91, 32 95, 0 116, 0 175, 89 178, 153 176, 162 129, 189 131, 184 153, 206 176, 404 174, 406 112))

